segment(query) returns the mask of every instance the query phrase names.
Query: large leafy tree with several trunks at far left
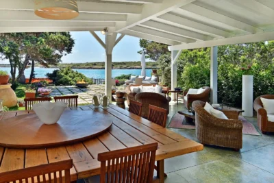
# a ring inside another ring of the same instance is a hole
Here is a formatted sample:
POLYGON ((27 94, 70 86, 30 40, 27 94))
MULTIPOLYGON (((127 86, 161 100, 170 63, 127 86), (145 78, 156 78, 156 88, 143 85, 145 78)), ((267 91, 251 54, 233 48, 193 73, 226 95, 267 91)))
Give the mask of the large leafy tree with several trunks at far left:
MULTIPOLYGON (((35 62, 46 67, 56 65, 61 61, 62 56, 71 53, 75 44, 69 32, 0 34, 0 42, 2 43, 0 53, 4 59, 10 61, 11 70, 18 69, 17 80, 21 78, 27 65, 31 62, 30 82, 34 76, 35 62), (10 42, 10 46, 5 46, 8 45, 8 42, 10 42), (11 58, 3 48, 13 49, 18 60, 14 60, 14 57, 11 58)), ((16 74, 14 71, 11 74, 12 82, 14 82, 16 74)))

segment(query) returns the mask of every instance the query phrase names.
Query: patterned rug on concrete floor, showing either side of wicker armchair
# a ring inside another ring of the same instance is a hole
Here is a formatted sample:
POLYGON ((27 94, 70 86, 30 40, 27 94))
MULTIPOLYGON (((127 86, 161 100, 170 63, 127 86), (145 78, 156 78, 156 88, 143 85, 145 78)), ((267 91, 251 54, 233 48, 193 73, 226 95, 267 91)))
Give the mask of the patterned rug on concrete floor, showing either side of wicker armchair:
MULTIPOLYGON (((240 116, 239 119, 243 125, 242 134, 262 136, 256 127, 245 119, 245 117, 240 116)), ((188 123, 182 114, 176 112, 169 123, 169 127, 195 130, 195 123, 188 123)))

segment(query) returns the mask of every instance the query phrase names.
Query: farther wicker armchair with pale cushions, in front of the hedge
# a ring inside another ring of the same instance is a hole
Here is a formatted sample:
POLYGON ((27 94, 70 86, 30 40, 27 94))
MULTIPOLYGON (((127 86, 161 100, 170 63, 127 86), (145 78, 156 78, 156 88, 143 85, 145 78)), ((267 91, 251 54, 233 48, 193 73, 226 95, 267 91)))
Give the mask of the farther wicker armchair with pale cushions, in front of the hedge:
POLYGON ((191 103, 195 100, 204 101, 204 102, 208 101, 208 99, 210 98, 209 95, 210 95, 211 89, 208 86, 203 86, 202 88, 206 90, 201 94, 189 94, 186 96, 188 92, 184 91, 184 106, 186 106, 186 108, 190 109, 191 103))

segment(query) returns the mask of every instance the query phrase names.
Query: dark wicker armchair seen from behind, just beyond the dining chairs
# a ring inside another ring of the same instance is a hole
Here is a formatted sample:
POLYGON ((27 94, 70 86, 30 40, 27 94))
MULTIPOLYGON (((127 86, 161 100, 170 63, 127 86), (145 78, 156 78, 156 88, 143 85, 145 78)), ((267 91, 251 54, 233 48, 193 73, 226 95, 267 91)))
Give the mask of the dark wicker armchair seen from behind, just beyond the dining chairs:
POLYGON ((169 114, 169 102, 171 97, 164 97, 159 93, 138 93, 135 95, 135 100, 142 103, 142 117, 147 118, 149 116, 149 105, 153 105, 159 108, 164 108, 169 114))

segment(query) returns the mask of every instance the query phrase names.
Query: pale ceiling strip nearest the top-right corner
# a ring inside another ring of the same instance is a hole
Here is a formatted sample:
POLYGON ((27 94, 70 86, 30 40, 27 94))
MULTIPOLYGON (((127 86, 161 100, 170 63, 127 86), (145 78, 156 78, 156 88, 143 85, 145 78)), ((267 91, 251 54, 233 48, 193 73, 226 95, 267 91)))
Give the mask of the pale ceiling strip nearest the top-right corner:
POLYGON ((257 14, 268 16, 270 18, 274 18, 274 10, 269 8, 268 6, 259 3, 255 0, 232 0, 232 2, 236 5, 240 5, 243 8, 248 8, 251 12, 256 12, 257 14))

